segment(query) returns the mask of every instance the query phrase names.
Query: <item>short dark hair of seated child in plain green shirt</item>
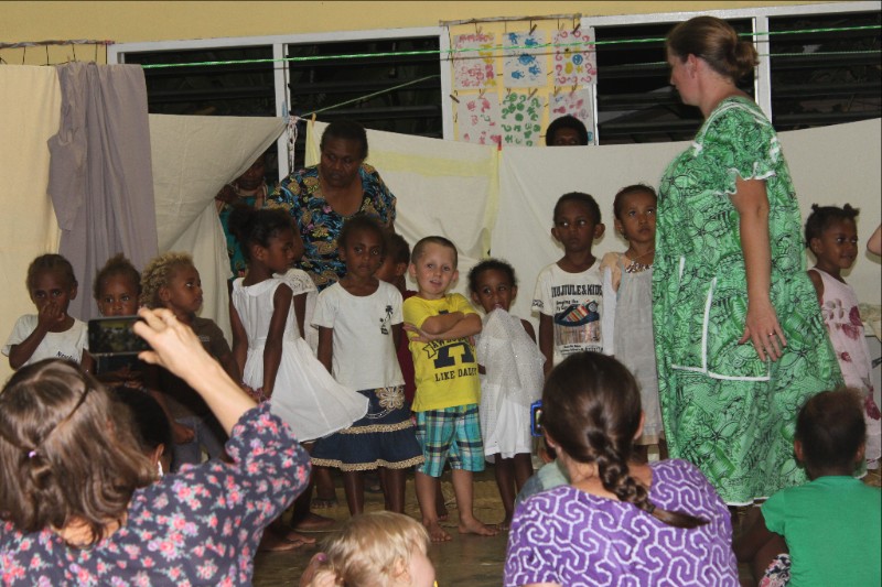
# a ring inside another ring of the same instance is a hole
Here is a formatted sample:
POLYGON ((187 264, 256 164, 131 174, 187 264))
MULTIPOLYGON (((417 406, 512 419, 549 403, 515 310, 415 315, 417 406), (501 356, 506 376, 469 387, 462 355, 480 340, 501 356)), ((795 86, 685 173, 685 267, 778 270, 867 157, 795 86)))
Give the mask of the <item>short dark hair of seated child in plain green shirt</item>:
POLYGON ((796 416, 796 439, 809 472, 853 469, 867 439, 860 393, 846 389, 809 398, 796 416))

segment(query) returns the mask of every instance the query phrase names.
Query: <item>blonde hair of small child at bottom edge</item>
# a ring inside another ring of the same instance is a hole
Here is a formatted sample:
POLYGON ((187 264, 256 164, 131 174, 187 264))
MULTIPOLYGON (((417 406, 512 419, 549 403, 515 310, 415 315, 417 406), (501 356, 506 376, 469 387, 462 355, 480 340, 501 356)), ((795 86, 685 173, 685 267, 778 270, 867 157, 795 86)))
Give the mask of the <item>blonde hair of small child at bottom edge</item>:
POLYGON ((324 547, 341 585, 385 587, 407 572, 413 548, 429 552, 429 533, 412 518, 377 511, 351 518, 324 547))

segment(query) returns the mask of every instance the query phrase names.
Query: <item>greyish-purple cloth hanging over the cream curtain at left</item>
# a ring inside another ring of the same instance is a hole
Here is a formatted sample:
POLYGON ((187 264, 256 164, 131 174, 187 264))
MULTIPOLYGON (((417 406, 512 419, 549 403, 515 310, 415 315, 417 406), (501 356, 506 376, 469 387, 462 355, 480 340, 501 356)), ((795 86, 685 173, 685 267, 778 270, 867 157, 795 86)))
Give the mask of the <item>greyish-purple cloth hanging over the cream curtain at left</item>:
POLYGON ((58 252, 79 291, 69 314, 98 315, 95 274, 122 252, 140 271, 157 254, 147 85, 139 65, 56 66, 58 133, 49 140, 49 195, 62 229, 58 252))

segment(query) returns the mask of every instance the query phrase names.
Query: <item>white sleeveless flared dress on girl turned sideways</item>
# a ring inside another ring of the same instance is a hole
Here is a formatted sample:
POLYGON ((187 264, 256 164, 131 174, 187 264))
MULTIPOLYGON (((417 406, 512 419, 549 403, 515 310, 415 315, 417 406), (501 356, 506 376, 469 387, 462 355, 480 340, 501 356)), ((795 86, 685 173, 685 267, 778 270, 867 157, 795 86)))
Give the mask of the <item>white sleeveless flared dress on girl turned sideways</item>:
MULTIPOLYGON (((233 282, 233 305, 248 334, 248 356, 243 381, 255 389, 263 385, 263 347, 272 318, 272 298, 282 283, 294 295, 314 290, 303 271, 244 286, 233 282)), ((313 441, 348 427, 367 413, 367 398, 337 383, 300 336, 294 313, 284 324, 282 360, 276 374, 270 410, 286 421, 301 442, 313 441)))

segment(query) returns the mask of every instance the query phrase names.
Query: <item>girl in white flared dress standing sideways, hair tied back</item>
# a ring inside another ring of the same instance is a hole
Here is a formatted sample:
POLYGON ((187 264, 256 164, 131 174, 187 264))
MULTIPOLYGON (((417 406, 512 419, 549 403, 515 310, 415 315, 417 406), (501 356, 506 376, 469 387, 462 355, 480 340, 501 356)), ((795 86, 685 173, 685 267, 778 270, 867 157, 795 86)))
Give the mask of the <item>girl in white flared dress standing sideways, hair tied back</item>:
MULTIPOLYGON (((314 285, 305 272, 289 271, 303 253, 303 243, 288 215, 237 208, 229 227, 248 260, 246 276, 233 282, 229 303, 233 355, 243 383, 258 399, 268 400, 272 413, 311 450, 309 441, 364 416, 367 399, 334 381, 303 339, 302 312, 314 285)), ((309 515, 310 492, 311 488, 304 491, 304 501, 298 501, 294 520, 309 515)), ((305 542, 297 533, 288 536, 305 542)))

